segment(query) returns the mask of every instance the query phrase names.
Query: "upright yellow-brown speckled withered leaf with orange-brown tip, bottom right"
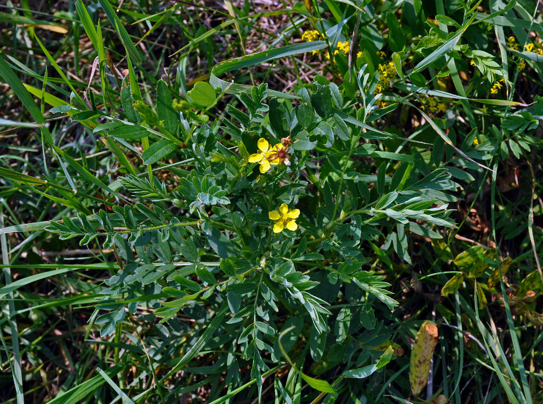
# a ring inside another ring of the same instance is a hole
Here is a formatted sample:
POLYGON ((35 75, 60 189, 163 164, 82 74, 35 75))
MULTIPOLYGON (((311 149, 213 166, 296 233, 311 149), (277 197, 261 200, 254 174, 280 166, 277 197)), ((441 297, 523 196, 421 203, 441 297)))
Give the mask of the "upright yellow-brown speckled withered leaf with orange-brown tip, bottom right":
POLYGON ((428 382, 430 359, 438 342, 438 327, 425 321, 416 333, 415 344, 411 351, 409 384, 414 395, 418 395, 428 382))

